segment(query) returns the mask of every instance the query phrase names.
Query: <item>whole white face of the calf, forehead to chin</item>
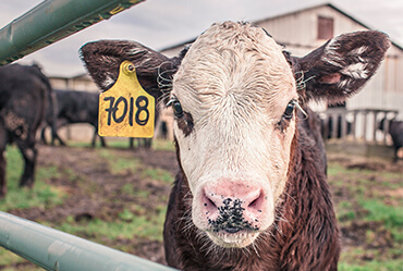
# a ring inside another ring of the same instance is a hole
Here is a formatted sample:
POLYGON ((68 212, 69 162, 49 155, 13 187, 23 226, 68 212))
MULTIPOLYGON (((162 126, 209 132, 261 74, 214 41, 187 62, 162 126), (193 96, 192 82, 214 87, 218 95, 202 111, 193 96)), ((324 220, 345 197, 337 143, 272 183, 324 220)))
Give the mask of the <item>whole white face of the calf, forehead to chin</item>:
POLYGON ((193 223, 219 246, 252 244, 274 221, 295 133, 284 111, 297 94, 281 48, 260 28, 213 25, 186 53, 171 98, 184 112, 174 134, 193 223))

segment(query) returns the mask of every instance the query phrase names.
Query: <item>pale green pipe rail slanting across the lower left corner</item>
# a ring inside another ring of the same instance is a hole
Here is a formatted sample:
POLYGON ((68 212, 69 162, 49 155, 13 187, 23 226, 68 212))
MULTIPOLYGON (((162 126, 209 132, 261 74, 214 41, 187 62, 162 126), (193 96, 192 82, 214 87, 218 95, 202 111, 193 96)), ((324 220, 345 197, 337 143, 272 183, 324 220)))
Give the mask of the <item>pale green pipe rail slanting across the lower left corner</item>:
POLYGON ((0 246, 46 270, 175 270, 1 211, 0 246))

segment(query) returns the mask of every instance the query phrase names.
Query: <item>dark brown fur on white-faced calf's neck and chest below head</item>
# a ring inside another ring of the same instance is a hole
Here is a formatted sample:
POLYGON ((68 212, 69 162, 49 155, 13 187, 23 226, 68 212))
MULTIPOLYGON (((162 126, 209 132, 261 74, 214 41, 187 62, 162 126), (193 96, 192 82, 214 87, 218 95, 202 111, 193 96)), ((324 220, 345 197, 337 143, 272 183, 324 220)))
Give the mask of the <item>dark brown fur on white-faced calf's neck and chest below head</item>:
MULTIPOLYGON (((313 112, 310 118, 315 120, 313 112)), ((198 237, 198 230, 187 225, 192 220, 192 195, 180 170, 164 225, 170 266, 183 270, 337 270, 339 230, 322 170, 323 149, 317 148, 321 143, 315 138, 309 122, 301 121, 293 141, 286 190, 277 205, 277 218, 281 220, 269 229, 271 234, 257 239, 256 250, 248 247, 248 251, 209 251, 211 242, 198 237)))

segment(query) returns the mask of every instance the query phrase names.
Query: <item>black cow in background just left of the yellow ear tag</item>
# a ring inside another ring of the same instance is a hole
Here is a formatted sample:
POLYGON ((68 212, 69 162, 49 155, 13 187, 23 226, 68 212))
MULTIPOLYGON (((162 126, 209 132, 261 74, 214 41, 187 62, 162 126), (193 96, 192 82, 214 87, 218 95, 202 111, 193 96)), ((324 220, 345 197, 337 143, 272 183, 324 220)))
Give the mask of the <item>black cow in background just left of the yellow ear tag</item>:
MULTIPOLYGON (((98 136, 98 94, 88 91, 76 91, 76 90, 61 90, 54 89, 57 98, 57 128, 62 126, 74 124, 74 123, 88 123, 94 126, 94 136, 91 146, 95 147, 96 138, 98 136)), ((50 116, 51 112, 47 112, 47 116, 50 116)), ((46 118, 48 120, 51 118, 46 118)), ((41 139, 46 143, 45 130, 41 131, 41 139)), ((102 147, 106 147, 105 139, 99 137, 102 147)), ((58 139, 61 145, 64 145, 63 140, 58 136, 57 133, 52 134, 52 145, 54 139, 58 139)))

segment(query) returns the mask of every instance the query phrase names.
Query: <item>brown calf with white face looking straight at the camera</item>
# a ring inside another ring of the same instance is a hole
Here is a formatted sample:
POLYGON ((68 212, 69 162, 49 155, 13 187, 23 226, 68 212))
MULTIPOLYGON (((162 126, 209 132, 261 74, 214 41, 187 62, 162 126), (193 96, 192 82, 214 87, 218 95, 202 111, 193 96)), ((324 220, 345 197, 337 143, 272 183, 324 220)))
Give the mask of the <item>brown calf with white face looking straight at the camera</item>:
POLYGON ((323 143, 306 102, 355 94, 389 46, 382 33, 358 32, 294 58, 266 30, 232 22, 172 59, 132 41, 85 45, 101 89, 130 60, 143 87, 173 108, 180 170, 163 231, 169 266, 337 270, 323 143), (171 89, 159 88, 171 76, 171 89))

